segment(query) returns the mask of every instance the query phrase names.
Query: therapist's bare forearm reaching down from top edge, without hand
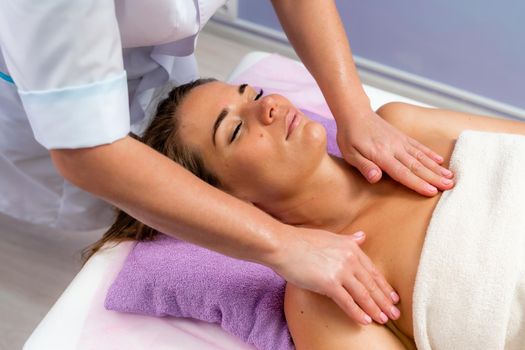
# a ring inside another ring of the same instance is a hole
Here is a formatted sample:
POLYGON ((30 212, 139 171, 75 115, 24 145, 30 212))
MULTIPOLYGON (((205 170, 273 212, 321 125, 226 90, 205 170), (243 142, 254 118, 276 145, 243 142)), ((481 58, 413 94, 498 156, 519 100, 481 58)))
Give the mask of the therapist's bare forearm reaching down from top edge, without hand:
POLYGON ((272 0, 286 35, 312 73, 336 121, 370 111, 332 0, 272 0))

